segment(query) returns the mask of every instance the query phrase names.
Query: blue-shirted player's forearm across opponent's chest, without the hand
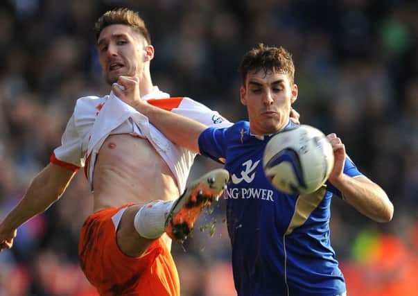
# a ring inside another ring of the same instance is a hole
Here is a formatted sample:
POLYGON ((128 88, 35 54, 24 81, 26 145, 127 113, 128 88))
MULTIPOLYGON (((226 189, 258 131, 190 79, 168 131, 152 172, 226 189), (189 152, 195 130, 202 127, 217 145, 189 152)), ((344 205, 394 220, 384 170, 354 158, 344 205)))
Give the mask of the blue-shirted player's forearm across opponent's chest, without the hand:
POLYGON ((206 125, 187 117, 168 112, 150 104, 138 104, 134 107, 148 117, 170 141, 199 153, 198 138, 200 133, 207 128, 206 125))

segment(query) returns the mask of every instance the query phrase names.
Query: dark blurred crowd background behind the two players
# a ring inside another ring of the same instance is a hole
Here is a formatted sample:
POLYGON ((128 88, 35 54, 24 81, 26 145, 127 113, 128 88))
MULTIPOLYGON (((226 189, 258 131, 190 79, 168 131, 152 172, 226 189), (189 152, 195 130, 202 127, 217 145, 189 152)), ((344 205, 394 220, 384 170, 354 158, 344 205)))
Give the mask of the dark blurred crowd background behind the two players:
MULTIPOLYGON (((302 123, 336 132, 394 202, 392 222, 378 224, 333 199, 331 242, 348 295, 418 295, 417 1, 1 1, 0 220, 49 163, 76 99, 108 94, 92 27, 116 7, 137 10, 148 24, 155 85, 231 121, 246 119, 242 55, 258 42, 293 53, 302 123)), ((190 178, 216 166, 198 157, 190 178)), ((91 210, 80 170, 62 199, 0 253, 0 296, 95 295, 77 256, 91 210)), ((183 296, 236 295, 225 202, 212 210, 188 241, 173 244, 183 296)))

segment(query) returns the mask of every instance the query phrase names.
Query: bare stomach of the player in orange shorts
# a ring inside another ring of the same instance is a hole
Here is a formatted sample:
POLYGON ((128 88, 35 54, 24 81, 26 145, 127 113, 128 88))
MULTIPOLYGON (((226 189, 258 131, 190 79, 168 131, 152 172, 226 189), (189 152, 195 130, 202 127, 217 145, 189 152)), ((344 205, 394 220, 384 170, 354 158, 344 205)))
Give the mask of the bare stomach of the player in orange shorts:
POLYGON ((173 200, 175 177, 147 139, 112 134, 94 164, 94 211, 128 203, 173 200))

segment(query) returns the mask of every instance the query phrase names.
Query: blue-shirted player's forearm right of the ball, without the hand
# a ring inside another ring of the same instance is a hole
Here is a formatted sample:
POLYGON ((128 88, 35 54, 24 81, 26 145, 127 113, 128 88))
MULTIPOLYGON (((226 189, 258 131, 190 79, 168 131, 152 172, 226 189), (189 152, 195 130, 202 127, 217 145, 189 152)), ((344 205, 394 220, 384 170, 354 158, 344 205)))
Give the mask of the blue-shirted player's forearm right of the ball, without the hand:
POLYGON ((367 177, 342 175, 340 180, 333 185, 341 191, 344 200, 361 214, 380 223, 392 220, 392 202, 385 191, 367 177))

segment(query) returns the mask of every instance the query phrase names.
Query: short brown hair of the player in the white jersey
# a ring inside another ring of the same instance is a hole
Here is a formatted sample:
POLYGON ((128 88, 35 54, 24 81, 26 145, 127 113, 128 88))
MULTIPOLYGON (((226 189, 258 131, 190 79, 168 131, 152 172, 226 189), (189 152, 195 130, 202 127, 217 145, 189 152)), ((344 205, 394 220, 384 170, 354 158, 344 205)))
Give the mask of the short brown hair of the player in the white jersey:
POLYGON ((150 33, 148 33, 145 22, 141 17, 139 17, 137 12, 129 10, 128 8, 116 8, 114 10, 109 10, 99 17, 96 24, 94 24, 96 41, 104 28, 114 24, 130 26, 134 31, 141 34, 148 44, 151 44, 150 33))

